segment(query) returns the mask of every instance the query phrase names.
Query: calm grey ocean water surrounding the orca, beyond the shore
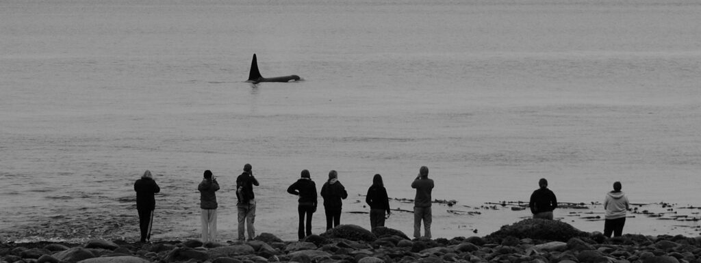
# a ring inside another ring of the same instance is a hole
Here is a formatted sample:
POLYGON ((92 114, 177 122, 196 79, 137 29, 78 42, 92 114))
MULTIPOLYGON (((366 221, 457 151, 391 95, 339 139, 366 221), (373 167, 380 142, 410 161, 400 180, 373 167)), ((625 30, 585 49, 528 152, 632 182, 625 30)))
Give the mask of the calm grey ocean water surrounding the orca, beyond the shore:
MULTIPOLYGON (((434 198, 464 206, 525 201, 539 178, 559 201, 603 201, 620 180, 634 203, 700 206, 699 13, 659 0, 1 1, 0 232, 135 239, 132 183, 149 169, 156 238, 194 237, 210 169, 233 238, 245 163, 261 182, 258 232, 290 240, 285 189, 302 169, 319 188, 339 171, 346 211, 367 211, 375 173, 413 198, 422 165, 434 198), (254 53, 264 76, 304 81, 244 83, 254 53)), ((523 216, 438 213, 435 236, 523 216)))

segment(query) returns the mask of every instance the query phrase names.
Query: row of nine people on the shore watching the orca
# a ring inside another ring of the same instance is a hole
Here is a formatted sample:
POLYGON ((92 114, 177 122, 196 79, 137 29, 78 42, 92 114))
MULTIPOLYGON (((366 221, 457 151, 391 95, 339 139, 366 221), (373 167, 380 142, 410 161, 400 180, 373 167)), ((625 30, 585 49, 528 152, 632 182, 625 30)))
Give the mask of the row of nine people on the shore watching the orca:
MULTIPOLYGON (((540 188, 531 194, 529 206, 533 213, 533 218, 552 220, 552 211, 557 208, 557 198, 555 194, 547 188, 547 180, 540 179, 540 188)), ((256 200, 253 193, 253 186, 259 186, 258 180, 253 176, 251 164, 243 166, 243 173, 236 178, 236 197, 238 209, 238 240, 248 240, 255 237, 254 221, 256 216, 256 200)), ((431 192, 434 187, 433 180, 428 178, 428 167, 421 166, 418 176, 411 183, 411 187, 416 189, 414 197, 414 237, 420 238, 421 225, 423 223, 424 238, 431 237, 431 192)), ((160 192, 160 187, 151 175, 151 171, 144 172, 142 178, 134 183, 134 190, 137 193, 137 211, 139 214, 139 228, 141 230, 142 242, 148 242, 151 238, 151 225, 156 201, 154 194, 160 192)), ((198 185, 200 192, 200 208, 202 209, 202 241, 217 240, 217 194, 219 183, 217 178, 212 176, 212 171, 204 172, 203 180, 198 185)), ((297 212, 299 213, 299 240, 305 239, 312 234, 312 215, 317 210, 318 196, 316 184, 311 180, 308 170, 302 170, 300 178, 287 187, 287 192, 299 196, 297 212)), ((324 199, 324 210, 326 215, 326 229, 332 229, 341 222, 341 208, 343 199, 348 197, 348 192, 339 181, 338 172, 329 171, 328 180, 322 185, 321 192, 324 199)), ((387 190, 384 187, 382 176, 374 175, 372 185, 367 190, 365 202, 370 207, 370 227, 383 227, 386 218, 391 215, 387 190)), ((604 224, 604 234, 611 237, 622 234, 625 225, 625 215, 629 208, 629 202, 625 193, 621 192, 620 182, 613 184, 613 191, 606 194, 604 209, 606 210, 606 221, 604 224)))

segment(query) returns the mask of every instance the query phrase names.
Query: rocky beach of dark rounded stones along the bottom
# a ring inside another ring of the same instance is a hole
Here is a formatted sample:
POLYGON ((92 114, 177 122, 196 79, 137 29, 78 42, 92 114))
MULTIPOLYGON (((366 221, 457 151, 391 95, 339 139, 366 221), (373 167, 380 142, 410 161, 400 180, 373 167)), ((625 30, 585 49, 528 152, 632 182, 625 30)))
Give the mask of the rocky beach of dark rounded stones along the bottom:
POLYGON ((701 238, 682 235, 625 234, 606 238, 582 232, 557 220, 526 219, 486 236, 409 239, 397 229, 373 232, 340 225, 283 241, 262 233, 252 241, 202 243, 157 241, 130 243, 94 239, 85 243, 1 243, 1 262, 8 263, 174 263, 174 262, 701 262, 701 238))

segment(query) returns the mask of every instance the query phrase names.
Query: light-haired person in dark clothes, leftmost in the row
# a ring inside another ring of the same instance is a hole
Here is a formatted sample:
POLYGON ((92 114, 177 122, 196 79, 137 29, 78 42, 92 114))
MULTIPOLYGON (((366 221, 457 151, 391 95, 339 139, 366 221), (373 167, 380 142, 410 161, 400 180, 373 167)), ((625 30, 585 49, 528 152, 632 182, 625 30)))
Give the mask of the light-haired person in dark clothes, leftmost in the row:
POLYGON ((151 225, 154 224, 154 210, 156 198, 154 194, 161 192, 151 171, 146 170, 141 179, 134 183, 136 191, 136 210, 139 212, 139 229, 141 230, 141 242, 151 240, 151 225))

